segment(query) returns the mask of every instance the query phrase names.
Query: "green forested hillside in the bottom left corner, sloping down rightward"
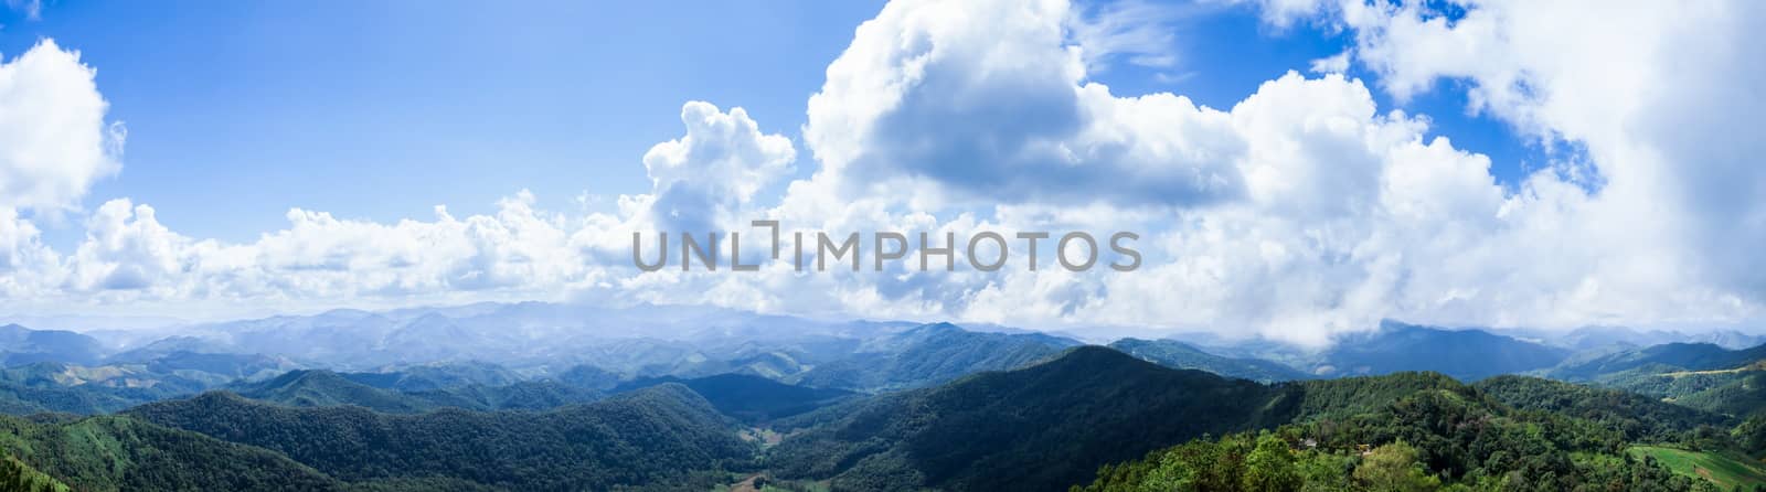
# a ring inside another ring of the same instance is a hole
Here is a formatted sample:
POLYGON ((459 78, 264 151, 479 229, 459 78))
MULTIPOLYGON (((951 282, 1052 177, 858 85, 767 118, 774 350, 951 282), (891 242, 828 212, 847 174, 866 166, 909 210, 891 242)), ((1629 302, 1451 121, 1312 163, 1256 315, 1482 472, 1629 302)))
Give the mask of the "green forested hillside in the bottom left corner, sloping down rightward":
POLYGON ((0 416, 0 453, 74 490, 343 490, 281 453, 125 416, 0 416))

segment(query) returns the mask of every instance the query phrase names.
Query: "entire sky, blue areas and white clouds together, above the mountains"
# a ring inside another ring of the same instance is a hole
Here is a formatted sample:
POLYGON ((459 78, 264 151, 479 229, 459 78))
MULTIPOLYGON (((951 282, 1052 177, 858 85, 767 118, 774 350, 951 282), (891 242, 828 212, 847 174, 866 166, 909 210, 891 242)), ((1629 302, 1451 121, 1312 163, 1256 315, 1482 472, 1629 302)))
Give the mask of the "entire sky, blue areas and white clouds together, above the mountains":
POLYGON ((1766 302, 1748 2, 7 7, 0 312, 652 302, 1321 342, 1754 328, 1766 302), (1136 231, 1146 263, 630 265, 634 231, 751 219, 1136 231))

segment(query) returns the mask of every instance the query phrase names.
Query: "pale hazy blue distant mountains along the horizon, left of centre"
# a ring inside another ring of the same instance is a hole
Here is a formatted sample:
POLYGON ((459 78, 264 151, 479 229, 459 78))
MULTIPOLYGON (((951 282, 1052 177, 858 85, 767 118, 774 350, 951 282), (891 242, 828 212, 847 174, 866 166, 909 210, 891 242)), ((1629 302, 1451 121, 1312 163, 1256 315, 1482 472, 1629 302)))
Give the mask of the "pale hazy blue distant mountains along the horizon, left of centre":
POLYGON ((192 324, 178 330, 177 340, 132 353, 268 354, 353 372, 487 362, 537 372, 590 363, 645 377, 696 377, 743 369, 756 376, 786 377, 846 354, 871 333, 894 328, 888 323, 823 323, 710 307, 530 302, 389 312, 330 310, 192 324))

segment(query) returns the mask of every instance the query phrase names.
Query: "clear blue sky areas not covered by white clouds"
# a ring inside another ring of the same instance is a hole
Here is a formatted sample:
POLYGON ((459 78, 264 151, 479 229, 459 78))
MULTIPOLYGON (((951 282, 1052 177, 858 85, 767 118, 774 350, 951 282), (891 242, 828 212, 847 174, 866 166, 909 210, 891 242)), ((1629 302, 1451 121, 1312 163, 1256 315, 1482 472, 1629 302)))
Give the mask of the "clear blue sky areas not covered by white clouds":
MULTIPOLYGON (((491 212, 521 189, 549 208, 574 208, 585 190, 643 192, 638 159, 678 132, 685 101, 742 106, 765 130, 798 139, 804 99, 878 9, 51 2, 34 21, 9 12, 0 53, 48 37, 97 67, 129 141, 122 175, 97 182, 87 206, 125 196, 182 233, 249 242, 291 206, 385 222, 434 205, 491 212)), ((1227 109, 1347 44, 1316 25, 1266 26, 1250 7, 1201 11, 1169 23, 1176 65, 1113 63, 1093 78, 1120 95, 1176 92, 1227 109)), ((1381 108, 1425 113, 1436 134, 1491 155, 1505 182, 1538 159, 1505 123, 1468 115, 1452 85, 1406 104, 1377 95, 1381 108)), ((78 224, 46 229, 60 247, 83 235, 78 224)))

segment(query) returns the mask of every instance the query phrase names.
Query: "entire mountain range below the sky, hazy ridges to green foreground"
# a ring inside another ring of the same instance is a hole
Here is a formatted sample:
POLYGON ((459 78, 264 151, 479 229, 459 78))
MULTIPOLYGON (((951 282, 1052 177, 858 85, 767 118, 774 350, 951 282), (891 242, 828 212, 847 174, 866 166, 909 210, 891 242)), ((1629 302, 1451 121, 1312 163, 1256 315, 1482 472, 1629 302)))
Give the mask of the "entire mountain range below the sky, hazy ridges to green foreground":
POLYGON ((1369 453, 1475 488, 1496 476, 1766 483, 1750 481, 1766 457, 1766 346, 1628 346, 1625 333, 1383 323, 1324 347, 1088 346, 1005 326, 544 303, 214 323, 134 346, 5 326, 0 413, 32 416, 0 418, 0 478, 78 490, 1136 490, 1167 474, 1243 487, 1280 455, 1247 457, 1282 446, 1305 483, 1362 483, 1369 453), (1529 451, 1492 458, 1508 448, 1529 451), (1697 464, 1717 462, 1725 474, 1706 480, 1697 464))

